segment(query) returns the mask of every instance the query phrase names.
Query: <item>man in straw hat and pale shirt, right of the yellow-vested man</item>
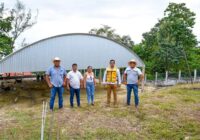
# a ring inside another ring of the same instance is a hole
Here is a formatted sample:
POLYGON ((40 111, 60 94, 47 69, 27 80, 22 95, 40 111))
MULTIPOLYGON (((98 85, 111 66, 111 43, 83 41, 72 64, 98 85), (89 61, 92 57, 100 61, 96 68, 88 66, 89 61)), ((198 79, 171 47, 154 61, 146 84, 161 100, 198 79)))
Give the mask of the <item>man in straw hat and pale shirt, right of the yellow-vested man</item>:
POLYGON ((142 72, 136 67, 136 61, 134 59, 129 61, 129 67, 124 72, 123 81, 127 86, 127 105, 130 105, 131 91, 134 92, 135 107, 138 109, 139 96, 138 96, 138 85, 142 81, 142 72))

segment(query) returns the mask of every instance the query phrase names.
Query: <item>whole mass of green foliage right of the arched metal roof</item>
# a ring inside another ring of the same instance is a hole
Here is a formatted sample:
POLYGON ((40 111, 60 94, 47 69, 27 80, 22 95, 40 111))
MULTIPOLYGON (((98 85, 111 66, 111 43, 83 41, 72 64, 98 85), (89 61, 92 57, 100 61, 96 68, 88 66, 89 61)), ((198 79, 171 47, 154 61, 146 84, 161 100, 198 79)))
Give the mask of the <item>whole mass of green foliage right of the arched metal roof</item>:
POLYGON ((169 3, 164 17, 133 47, 145 61, 147 73, 200 67, 194 24, 195 13, 184 3, 169 3))

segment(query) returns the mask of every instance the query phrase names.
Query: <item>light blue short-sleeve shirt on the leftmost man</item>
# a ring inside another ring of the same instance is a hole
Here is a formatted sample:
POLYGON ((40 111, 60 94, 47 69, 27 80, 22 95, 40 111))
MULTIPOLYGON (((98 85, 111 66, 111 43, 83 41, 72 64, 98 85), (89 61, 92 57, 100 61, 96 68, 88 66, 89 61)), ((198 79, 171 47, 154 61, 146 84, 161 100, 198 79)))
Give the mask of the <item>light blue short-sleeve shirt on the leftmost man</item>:
POLYGON ((50 67, 46 71, 46 75, 50 76, 51 84, 55 87, 61 87, 64 82, 64 77, 67 75, 66 70, 63 67, 50 67))

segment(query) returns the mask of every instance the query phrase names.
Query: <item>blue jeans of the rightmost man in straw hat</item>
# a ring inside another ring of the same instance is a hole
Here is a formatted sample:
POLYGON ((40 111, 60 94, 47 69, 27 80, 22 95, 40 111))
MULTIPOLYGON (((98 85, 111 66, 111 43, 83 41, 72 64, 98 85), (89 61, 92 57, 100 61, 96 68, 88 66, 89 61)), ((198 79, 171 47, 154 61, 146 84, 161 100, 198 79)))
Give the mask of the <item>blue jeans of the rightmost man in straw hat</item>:
POLYGON ((135 97, 135 106, 138 106, 139 96, 138 96, 138 85, 137 84, 127 84, 127 105, 130 105, 132 90, 133 90, 134 97, 135 97))

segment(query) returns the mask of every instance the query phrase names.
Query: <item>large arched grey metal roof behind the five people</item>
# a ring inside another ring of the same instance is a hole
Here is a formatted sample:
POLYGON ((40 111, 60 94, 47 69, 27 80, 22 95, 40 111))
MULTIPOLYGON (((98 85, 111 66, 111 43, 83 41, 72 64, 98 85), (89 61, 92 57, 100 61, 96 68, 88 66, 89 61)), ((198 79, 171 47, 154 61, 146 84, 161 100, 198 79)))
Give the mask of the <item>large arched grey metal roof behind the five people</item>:
POLYGON ((79 69, 88 65, 94 69, 105 68, 110 59, 115 59, 118 67, 126 67, 130 59, 135 59, 139 67, 143 61, 126 46, 111 39, 85 33, 53 36, 28 45, 0 61, 0 73, 41 72, 52 65, 58 56, 67 70, 72 63, 79 69))

